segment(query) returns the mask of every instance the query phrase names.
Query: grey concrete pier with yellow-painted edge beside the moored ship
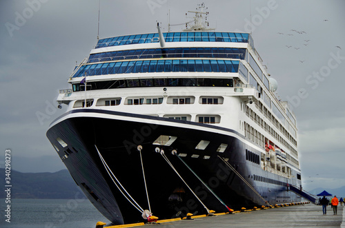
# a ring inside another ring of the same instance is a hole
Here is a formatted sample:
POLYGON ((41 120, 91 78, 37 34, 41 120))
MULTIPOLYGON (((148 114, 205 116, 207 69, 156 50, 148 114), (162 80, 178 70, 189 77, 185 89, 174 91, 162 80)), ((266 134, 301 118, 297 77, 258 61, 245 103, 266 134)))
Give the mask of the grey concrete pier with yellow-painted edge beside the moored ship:
MULTIPOLYGON (((168 220, 161 222, 161 227, 345 227, 344 206, 338 205, 337 215, 333 215, 331 206, 327 214, 322 214, 321 205, 304 204, 288 207, 246 210, 235 214, 217 216, 196 216, 194 220, 168 220)), ((143 224, 111 226, 147 227, 143 224)))

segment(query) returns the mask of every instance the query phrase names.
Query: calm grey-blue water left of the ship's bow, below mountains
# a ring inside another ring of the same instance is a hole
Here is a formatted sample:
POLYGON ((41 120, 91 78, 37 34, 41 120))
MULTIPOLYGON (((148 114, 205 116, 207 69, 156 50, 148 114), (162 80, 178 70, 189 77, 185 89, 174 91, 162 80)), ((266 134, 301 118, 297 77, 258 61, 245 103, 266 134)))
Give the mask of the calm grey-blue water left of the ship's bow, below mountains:
POLYGON ((11 222, 6 222, 5 199, 0 199, 0 227, 96 227, 98 221, 109 223, 87 199, 12 199, 11 222))

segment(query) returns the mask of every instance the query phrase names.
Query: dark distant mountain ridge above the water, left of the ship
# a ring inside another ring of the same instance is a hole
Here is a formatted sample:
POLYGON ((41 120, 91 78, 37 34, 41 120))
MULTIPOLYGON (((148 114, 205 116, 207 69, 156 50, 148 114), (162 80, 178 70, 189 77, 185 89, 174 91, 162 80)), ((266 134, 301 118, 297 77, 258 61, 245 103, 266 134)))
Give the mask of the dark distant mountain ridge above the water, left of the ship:
MULTIPOLYGON (((0 168, 0 176, 4 183, 5 169, 0 168)), ((10 178, 11 198, 75 198, 77 191, 81 192, 67 169, 55 173, 11 170, 10 178)), ((0 198, 6 198, 5 194, 5 191, 0 191, 0 198)))

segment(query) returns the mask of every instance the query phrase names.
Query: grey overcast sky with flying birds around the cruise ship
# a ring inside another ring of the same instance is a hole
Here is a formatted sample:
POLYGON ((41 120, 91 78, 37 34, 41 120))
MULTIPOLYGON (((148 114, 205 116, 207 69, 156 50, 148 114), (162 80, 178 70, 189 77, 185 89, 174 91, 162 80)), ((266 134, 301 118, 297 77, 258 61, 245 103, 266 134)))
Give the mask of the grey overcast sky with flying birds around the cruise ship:
MULTIPOLYGON (((171 24, 184 23, 190 20, 185 13, 201 2, 101 0, 99 37, 157 32, 156 21, 167 31, 169 9, 171 24)), ((344 186, 345 1, 203 2, 210 27, 252 32, 268 73, 278 81, 279 99, 290 100, 304 189, 344 186)), ((66 111, 57 109, 58 90, 70 88, 76 61, 97 43, 97 19, 96 0, 0 2, 1 167, 11 149, 17 171, 65 168, 46 131, 66 111)))

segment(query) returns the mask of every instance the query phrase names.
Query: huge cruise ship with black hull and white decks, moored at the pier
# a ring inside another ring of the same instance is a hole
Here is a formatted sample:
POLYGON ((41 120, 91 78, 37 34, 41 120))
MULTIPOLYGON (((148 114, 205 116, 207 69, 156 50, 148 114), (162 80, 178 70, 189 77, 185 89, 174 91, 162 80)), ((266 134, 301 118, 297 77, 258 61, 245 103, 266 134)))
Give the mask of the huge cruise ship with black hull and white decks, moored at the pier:
POLYGON ((301 201, 293 112, 251 35, 204 8, 179 32, 98 39, 60 90, 47 137, 112 224, 301 201))

